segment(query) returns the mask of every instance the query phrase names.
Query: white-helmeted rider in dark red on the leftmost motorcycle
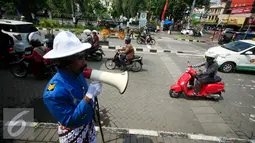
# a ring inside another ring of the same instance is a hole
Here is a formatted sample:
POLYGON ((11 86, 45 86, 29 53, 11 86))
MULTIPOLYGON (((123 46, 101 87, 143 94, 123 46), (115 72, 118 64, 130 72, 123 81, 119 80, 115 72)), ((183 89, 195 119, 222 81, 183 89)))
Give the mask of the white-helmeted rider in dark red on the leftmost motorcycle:
POLYGON ((28 40, 33 46, 33 51, 31 55, 24 55, 24 59, 33 59, 29 66, 32 66, 33 75, 40 79, 43 77, 45 70, 43 56, 47 52, 47 48, 42 45, 41 36, 36 32, 29 34, 28 40))

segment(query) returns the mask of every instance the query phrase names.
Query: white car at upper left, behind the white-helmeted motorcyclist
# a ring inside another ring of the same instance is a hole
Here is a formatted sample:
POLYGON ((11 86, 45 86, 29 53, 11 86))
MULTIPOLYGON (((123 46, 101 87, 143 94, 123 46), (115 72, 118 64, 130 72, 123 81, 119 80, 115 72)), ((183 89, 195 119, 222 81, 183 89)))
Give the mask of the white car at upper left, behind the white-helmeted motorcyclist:
POLYGON ((0 19, 0 30, 13 38, 14 47, 12 52, 24 52, 25 48, 31 47, 28 42, 28 35, 31 32, 38 32, 38 29, 30 22, 0 19))

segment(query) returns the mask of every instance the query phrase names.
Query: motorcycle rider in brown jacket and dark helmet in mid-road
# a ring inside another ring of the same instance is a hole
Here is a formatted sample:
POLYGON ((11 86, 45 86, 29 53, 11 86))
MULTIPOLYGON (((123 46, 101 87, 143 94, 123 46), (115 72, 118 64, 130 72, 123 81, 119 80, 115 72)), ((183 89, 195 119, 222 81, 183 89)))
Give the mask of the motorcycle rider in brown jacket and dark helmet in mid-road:
POLYGON ((125 47, 120 49, 120 63, 122 68, 126 66, 126 61, 132 60, 135 54, 134 48, 131 45, 131 38, 125 38, 125 47))

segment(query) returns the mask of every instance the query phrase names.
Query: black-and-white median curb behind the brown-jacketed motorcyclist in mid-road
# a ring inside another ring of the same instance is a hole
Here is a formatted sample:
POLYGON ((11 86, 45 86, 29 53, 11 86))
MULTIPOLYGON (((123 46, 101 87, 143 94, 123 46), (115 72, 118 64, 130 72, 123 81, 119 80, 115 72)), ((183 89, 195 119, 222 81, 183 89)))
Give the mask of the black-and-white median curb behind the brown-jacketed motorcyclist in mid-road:
MULTIPOLYGON (((121 46, 105 46, 101 45, 103 49, 117 50, 121 46)), ((171 50, 157 50, 157 49, 145 49, 145 48, 134 48, 136 52, 149 52, 149 53, 180 53, 180 54, 196 54, 194 51, 171 51, 171 50)))

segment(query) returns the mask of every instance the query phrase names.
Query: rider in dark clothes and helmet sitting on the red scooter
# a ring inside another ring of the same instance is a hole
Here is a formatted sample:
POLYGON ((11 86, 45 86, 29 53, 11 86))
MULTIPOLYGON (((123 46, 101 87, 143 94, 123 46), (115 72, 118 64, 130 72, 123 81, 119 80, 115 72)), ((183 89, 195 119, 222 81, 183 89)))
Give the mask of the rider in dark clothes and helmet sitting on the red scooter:
POLYGON ((197 74, 197 79, 195 80, 194 84, 194 96, 198 95, 200 88, 203 84, 213 83, 216 80, 218 71, 218 64, 215 61, 216 58, 217 54, 206 53, 206 60, 204 62, 192 66, 194 68, 205 66, 205 71, 203 72, 202 70, 200 70, 200 73, 197 74))

